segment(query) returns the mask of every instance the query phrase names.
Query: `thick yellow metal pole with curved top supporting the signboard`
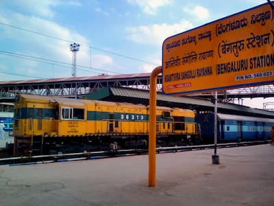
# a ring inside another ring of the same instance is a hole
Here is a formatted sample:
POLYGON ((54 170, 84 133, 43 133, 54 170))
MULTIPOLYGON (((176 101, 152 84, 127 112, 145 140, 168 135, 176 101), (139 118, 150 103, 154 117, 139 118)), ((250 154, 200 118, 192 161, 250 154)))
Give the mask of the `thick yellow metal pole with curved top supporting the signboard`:
POLYGON ((156 83, 162 67, 153 69, 149 89, 149 187, 156 184, 156 83))

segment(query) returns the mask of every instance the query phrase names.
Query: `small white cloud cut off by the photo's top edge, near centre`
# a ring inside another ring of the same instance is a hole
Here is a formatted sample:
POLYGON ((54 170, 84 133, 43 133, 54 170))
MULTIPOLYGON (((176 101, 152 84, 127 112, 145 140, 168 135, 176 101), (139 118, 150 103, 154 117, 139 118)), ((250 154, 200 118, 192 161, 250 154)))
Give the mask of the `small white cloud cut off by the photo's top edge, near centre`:
POLYGON ((127 0, 132 5, 138 5, 145 14, 156 14, 159 7, 169 5, 170 0, 127 0))

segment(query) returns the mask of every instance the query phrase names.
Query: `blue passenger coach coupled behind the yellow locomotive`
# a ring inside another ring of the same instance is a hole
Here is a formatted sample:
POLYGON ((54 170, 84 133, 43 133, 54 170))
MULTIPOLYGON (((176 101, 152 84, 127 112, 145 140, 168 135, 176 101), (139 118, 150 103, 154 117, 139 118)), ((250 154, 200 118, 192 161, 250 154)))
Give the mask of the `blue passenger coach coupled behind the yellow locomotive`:
MULTIPOLYGON (((212 143, 214 141, 214 113, 198 114, 196 122, 201 126, 203 141, 212 143)), ((219 142, 262 140, 270 139, 274 119, 219 113, 217 124, 219 142)))

